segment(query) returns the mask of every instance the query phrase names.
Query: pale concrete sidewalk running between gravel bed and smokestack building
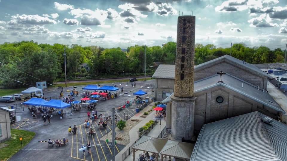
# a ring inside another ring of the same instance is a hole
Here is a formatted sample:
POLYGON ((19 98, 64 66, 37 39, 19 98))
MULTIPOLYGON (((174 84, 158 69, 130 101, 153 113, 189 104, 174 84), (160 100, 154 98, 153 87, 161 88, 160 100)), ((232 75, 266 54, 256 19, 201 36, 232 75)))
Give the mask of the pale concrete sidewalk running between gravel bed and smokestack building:
MULTIPOLYGON (((154 103, 151 103, 152 105, 154 103)), ((130 139, 130 143, 128 145, 126 145, 125 148, 123 148, 123 150, 121 150, 117 155, 116 155, 116 160, 117 161, 121 161, 123 160, 123 153, 129 149, 129 147, 132 146, 132 144, 135 143, 136 140, 138 140, 138 129, 143 127, 147 122, 149 122, 149 120, 154 120, 155 119, 155 111, 151 112, 146 118, 140 117, 142 114, 144 114, 144 112, 148 111, 152 106, 147 106, 146 108, 144 108, 143 110, 141 110, 138 114, 135 114, 131 119, 138 119, 138 120, 142 120, 140 123, 138 123, 135 127, 133 127, 130 131, 129 131, 129 139, 130 139)), ((164 128, 164 126, 166 125, 166 122, 164 121, 164 118, 161 119, 161 126, 160 125, 155 125, 153 127, 153 129, 150 131, 150 133, 148 134, 148 136, 152 136, 152 137, 158 137, 158 135, 160 134, 160 128, 161 131, 164 128)), ((131 160, 130 158, 132 154, 127 157, 125 160, 131 160)))

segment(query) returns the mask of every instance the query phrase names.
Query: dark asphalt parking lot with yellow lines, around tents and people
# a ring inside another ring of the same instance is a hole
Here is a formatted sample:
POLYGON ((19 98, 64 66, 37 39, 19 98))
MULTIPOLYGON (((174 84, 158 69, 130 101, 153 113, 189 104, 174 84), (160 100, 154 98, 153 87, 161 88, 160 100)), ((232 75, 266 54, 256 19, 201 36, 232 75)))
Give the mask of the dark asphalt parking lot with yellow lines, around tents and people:
MULTIPOLYGON (((120 97, 115 99, 110 99, 106 101, 100 101, 97 104, 97 111, 98 115, 100 113, 103 113, 105 115, 111 115, 112 114, 112 108, 118 107, 120 105, 123 105, 126 101, 132 101, 133 98, 132 93, 136 92, 138 89, 146 91, 148 94, 144 97, 154 97, 154 92, 152 92, 152 89, 154 89, 154 80, 148 80, 146 82, 144 81, 137 81, 136 86, 132 87, 130 82, 115 82, 115 84, 118 86, 118 88, 123 87, 124 92, 120 92, 120 97), (127 85, 127 86, 126 86, 127 85), (127 94, 124 94, 127 93, 127 94)), ((112 85, 109 84, 100 84, 103 85, 112 85)), ((79 96, 76 97, 76 100, 80 100, 81 96, 80 93, 82 92, 83 86, 77 86, 77 90, 79 91, 79 96)), ((71 91, 75 89, 74 87, 64 87, 63 92, 64 96, 67 96, 71 91)), ((44 89, 43 92, 45 93, 45 96, 48 98, 49 96, 52 97, 53 94, 60 94, 62 89, 57 88, 48 88, 44 89)), ((134 97, 135 95, 133 95, 134 97)), ((59 98, 59 97, 58 97, 59 98)), ((49 99, 48 99, 49 100, 49 99)), ((20 103, 20 101, 16 101, 16 103, 20 103)), ((9 103, 13 104, 13 103, 9 103)), ((6 105, 7 103, 1 103, 0 106, 6 105)), ((138 106, 138 104, 132 104, 129 108, 116 112, 117 119, 124 119, 124 115, 128 116, 128 118, 131 118, 136 114, 135 108, 138 106)), ((111 143, 111 140, 109 140, 108 144, 100 140, 102 137, 106 137, 106 134, 111 131, 112 124, 111 122, 107 123, 106 129, 99 129, 97 126, 99 123, 99 120, 94 120, 92 122, 91 128, 96 132, 93 137, 87 135, 88 128, 85 128, 83 126, 84 120, 87 118, 87 109, 84 108, 81 111, 73 112, 73 115, 71 115, 71 108, 66 108, 63 111, 66 113, 66 117, 63 119, 59 119, 57 116, 53 116, 51 118, 51 124, 48 124, 48 121, 46 122, 46 125, 44 125, 44 122, 41 118, 35 118, 33 119, 31 113, 28 110, 28 107, 24 107, 24 112, 22 112, 22 105, 17 105, 16 109, 16 115, 20 115, 22 120, 21 122, 15 122, 11 126, 15 129, 24 129, 29 131, 36 132, 35 137, 26 145, 23 150, 18 151, 13 157, 10 158, 10 160, 111 160, 112 159, 112 148, 109 144, 111 143), (76 125, 78 128, 77 134, 71 135, 68 134, 68 127, 76 125), (48 147, 47 142, 40 142, 38 141, 47 141, 48 139, 51 140, 62 140, 62 138, 65 137, 65 139, 69 140, 69 144, 66 146, 61 147, 48 147), (82 147, 84 144, 88 143, 88 141, 91 141, 91 145, 97 145, 91 147, 91 154, 87 153, 86 155, 83 155, 82 151, 79 151, 78 149, 82 147)), ((124 145, 116 144, 116 153, 121 151, 121 149, 124 148, 124 145)))

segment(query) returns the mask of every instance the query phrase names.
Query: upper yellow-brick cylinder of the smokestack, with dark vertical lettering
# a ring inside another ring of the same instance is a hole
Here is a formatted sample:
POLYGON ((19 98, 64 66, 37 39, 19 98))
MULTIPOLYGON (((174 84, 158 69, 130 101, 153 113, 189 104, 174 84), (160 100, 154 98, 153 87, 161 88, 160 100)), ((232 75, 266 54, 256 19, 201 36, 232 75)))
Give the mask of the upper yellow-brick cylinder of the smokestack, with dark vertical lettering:
POLYGON ((194 41, 195 16, 179 16, 175 56, 175 97, 193 97, 194 41))

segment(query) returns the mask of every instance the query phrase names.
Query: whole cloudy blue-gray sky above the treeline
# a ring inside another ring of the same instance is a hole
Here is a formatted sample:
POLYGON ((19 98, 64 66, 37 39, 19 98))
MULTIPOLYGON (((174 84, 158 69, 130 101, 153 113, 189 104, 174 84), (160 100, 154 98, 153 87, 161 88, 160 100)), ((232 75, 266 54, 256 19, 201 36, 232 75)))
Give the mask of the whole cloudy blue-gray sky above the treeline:
POLYGON ((0 0, 0 43, 161 46, 191 10, 196 43, 287 44, 287 0, 0 0))

